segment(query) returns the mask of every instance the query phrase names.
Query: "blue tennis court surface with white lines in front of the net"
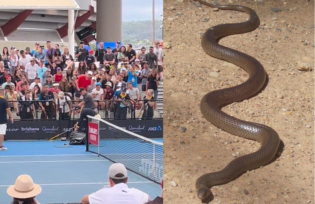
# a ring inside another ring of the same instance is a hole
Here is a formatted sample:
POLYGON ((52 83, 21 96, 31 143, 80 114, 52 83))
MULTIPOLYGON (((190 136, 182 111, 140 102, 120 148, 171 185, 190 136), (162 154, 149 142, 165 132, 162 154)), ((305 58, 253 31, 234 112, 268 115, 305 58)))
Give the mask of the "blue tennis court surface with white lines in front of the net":
MULTIPOLYGON (((163 142, 163 139, 154 139, 163 142)), ((0 151, 0 198, 10 203, 7 188, 21 174, 29 174, 42 187, 37 201, 45 203, 80 203, 83 196, 108 184, 108 168, 113 163, 85 151, 85 145, 68 145, 68 141, 4 141, 7 151, 0 151), (64 145, 67 143, 67 145, 64 145)), ((161 195, 159 184, 128 172, 129 188, 161 195)))

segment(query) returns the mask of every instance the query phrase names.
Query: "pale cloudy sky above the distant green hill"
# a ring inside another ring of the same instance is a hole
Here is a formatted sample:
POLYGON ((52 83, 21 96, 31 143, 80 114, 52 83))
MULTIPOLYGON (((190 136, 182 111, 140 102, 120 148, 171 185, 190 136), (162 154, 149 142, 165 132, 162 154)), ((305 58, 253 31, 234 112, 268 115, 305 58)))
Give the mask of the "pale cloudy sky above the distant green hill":
MULTIPOLYGON (((163 0, 154 0, 155 20, 163 20, 163 0)), ((152 0, 123 0, 123 21, 152 20, 152 0)))

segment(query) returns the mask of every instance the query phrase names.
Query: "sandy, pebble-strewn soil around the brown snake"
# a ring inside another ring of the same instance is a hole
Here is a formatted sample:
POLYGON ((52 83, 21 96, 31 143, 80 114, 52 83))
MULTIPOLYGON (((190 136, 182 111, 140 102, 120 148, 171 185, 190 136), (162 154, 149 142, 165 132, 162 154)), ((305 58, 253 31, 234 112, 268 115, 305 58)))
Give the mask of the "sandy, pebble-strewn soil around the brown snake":
MULTIPOLYGON (((314 69, 314 0, 217 2, 256 11, 259 28, 225 37, 220 44, 258 59, 269 77, 259 94, 222 110, 272 127, 282 142, 274 161, 212 187, 207 202, 314 203, 314 71, 298 70, 314 69)), ((248 77, 239 67, 205 54, 202 33, 214 25, 243 22, 248 15, 216 12, 191 0, 164 0, 163 15, 164 203, 202 203, 195 190, 199 176, 224 168, 233 153, 245 155, 260 148, 258 142, 213 126, 199 110, 205 93, 248 77)))

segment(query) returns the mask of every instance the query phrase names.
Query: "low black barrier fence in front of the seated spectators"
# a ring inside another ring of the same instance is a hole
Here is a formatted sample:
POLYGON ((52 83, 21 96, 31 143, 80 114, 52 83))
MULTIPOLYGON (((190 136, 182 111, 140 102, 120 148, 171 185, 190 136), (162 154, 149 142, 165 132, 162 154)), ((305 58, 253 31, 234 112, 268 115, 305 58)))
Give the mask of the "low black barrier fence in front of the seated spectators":
MULTIPOLYGON (((72 109, 82 100, 61 102, 18 100, 8 101, 14 120, 77 120, 80 115, 72 109)), ((95 111, 107 120, 163 119, 163 100, 95 100, 95 111)))

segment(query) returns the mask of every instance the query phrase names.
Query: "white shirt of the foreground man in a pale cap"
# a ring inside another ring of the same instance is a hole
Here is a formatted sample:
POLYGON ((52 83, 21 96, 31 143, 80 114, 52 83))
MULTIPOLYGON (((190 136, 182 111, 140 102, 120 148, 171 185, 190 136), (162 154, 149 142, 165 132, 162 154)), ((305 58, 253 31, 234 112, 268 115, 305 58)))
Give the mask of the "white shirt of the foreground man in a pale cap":
POLYGON ((90 204, 143 204, 149 199, 148 194, 135 188, 128 188, 127 184, 124 183, 116 184, 112 188, 98 190, 89 195, 90 204))

